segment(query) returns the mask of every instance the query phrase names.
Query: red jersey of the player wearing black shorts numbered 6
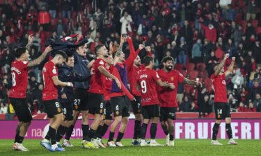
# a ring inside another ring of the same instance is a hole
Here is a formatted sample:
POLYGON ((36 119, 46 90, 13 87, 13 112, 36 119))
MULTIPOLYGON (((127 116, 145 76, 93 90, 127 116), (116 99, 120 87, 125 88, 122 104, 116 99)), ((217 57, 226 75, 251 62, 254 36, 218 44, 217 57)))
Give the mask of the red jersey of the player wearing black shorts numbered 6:
POLYGON ((104 83, 105 83, 105 76, 99 71, 98 67, 104 67, 106 69, 106 61, 102 58, 98 58, 93 62, 92 72, 93 75, 90 78, 90 93, 95 94, 104 94, 104 83))

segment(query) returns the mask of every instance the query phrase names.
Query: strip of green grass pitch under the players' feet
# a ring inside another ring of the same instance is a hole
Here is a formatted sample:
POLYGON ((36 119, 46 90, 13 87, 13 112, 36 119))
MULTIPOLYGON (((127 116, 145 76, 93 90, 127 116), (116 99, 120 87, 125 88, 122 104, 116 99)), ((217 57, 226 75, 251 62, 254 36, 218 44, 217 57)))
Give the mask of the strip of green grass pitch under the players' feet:
MULTIPOLYGON (((227 145, 228 140, 219 140, 223 146, 211 146, 209 139, 176 139, 175 147, 139 147, 130 146, 131 139, 123 139, 122 144, 125 147, 116 148, 102 148, 102 149, 85 149, 81 148, 80 139, 72 139, 71 143, 74 145, 73 148, 66 148, 65 152, 51 153, 45 148, 40 146, 39 139, 25 139, 24 146, 29 148, 29 152, 21 152, 12 150, 13 140, 11 139, 1 139, 0 140, 0 155, 66 155, 66 156, 166 156, 166 155, 236 155, 236 156, 251 156, 251 155, 261 155, 261 140, 237 140, 238 145, 227 145)), ((164 144, 164 139, 157 139, 160 144, 164 144)), ((106 142, 106 140, 104 140, 106 142)))

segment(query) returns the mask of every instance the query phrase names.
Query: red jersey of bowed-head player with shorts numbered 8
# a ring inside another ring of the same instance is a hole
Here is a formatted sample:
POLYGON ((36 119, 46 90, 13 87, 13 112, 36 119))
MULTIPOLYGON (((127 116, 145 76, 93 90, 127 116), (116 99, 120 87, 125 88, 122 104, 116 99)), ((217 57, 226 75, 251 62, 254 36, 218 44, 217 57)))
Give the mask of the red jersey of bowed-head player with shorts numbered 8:
POLYGON ((42 101, 49 101, 58 98, 58 88, 54 85, 53 76, 58 76, 58 69, 54 62, 45 63, 42 68, 42 79, 44 81, 44 89, 42 89, 42 101))

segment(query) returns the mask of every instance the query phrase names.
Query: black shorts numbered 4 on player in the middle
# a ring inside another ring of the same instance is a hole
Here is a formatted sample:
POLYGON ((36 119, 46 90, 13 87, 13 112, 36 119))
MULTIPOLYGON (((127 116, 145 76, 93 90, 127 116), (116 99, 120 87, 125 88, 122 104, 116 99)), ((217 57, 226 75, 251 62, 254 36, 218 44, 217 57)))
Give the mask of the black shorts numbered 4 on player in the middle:
POLYGON ((129 116, 129 99, 127 96, 112 97, 111 106, 114 116, 129 116))

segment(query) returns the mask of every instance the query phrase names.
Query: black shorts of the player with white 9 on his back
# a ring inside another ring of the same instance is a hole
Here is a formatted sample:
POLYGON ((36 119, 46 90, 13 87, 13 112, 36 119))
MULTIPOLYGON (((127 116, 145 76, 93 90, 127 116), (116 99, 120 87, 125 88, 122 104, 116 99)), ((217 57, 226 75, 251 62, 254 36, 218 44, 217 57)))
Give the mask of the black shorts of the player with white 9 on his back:
POLYGON ((159 105, 142 106, 141 114, 143 115, 143 119, 159 117, 159 105))

